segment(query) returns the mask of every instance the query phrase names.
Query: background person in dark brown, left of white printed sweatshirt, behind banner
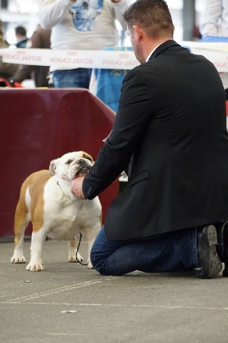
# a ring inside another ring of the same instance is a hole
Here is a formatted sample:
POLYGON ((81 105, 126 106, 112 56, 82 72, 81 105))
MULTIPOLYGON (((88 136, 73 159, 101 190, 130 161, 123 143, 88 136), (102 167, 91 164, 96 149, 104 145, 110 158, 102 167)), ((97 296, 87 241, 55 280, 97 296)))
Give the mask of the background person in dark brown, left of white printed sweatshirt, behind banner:
MULTIPOLYGON (((50 49, 51 30, 43 30, 38 25, 36 31, 27 41, 27 48, 50 49)), ((48 87, 49 66, 29 66, 20 65, 13 75, 11 82, 22 82, 25 79, 32 78, 36 87, 48 87)))

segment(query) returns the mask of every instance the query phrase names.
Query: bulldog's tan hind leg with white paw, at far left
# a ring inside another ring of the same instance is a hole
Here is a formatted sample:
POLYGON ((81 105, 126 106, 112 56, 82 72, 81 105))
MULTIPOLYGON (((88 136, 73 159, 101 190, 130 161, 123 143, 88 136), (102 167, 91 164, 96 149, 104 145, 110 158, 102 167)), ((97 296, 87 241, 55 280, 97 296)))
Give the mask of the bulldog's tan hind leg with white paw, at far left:
POLYGON ((20 195, 14 216, 14 252, 11 263, 26 263, 23 252, 25 229, 31 220, 25 197, 20 195))

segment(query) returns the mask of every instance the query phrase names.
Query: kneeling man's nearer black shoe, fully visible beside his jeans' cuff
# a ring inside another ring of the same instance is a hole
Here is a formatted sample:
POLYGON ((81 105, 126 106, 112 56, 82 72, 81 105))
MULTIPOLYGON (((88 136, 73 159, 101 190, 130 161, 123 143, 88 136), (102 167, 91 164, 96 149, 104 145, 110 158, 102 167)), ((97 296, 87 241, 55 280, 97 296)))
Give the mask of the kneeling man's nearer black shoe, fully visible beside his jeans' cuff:
POLYGON ((197 229, 198 264, 201 269, 196 276, 211 278, 222 270, 222 263, 216 251, 217 231, 214 225, 206 225, 197 229))

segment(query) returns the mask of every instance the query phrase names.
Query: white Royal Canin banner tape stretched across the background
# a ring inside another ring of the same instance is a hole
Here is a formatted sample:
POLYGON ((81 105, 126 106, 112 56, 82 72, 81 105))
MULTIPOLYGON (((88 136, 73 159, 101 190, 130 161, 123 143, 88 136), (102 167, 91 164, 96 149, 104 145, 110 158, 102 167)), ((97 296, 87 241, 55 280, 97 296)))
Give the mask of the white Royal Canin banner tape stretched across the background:
MULTIPOLYGON (((218 72, 228 72, 228 43, 182 41, 192 53, 208 58, 218 72)), ((118 48, 117 48, 118 49, 118 48)), ((132 69, 139 65, 133 51, 0 49, 3 62, 52 66, 52 69, 132 69)))

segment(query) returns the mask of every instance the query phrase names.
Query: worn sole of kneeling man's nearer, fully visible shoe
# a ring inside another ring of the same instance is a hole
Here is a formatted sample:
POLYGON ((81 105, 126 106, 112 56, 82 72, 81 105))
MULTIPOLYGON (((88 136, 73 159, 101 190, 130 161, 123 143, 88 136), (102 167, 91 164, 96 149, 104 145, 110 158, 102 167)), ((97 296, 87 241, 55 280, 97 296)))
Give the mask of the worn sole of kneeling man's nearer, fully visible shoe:
POLYGON ((222 270, 222 263, 218 257, 216 245, 218 244, 217 231, 214 225, 207 227, 207 245, 210 248, 210 270, 208 275, 202 275, 201 271, 197 273, 200 278, 212 278, 217 276, 222 270))

